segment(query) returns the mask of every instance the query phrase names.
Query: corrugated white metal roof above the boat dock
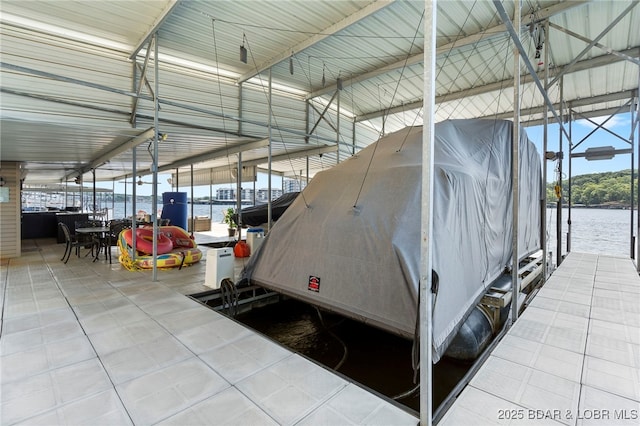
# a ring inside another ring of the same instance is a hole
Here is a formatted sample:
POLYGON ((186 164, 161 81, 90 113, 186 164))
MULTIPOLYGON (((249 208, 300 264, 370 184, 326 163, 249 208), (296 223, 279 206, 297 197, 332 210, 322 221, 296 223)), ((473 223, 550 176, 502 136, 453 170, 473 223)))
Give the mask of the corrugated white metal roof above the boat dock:
MULTIPOLYGON (((634 4, 539 0, 523 7, 521 41, 534 65, 527 24, 553 24, 540 76, 548 68, 555 78, 599 37, 600 47, 562 79, 564 100, 578 111, 610 111, 637 90, 638 63, 607 49, 637 61, 638 8, 603 34, 634 4)), ((513 2, 504 7, 513 14, 513 2)), ((27 182, 73 180, 94 166, 101 180, 132 174, 132 151, 118 147, 153 126, 157 65, 158 130, 168 135, 159 145, 162 169, 184 169, 190 159, 197 169, 228 167, 237 159, 227 152, 245 148, 244 161, 266 168, 260 141, 269 135, 270 74, 273 169, 306 175, 307 159, 291 153, 333 146, 309 157, 313 176, 382 132, 421 124, 423 8, 411 0, 3 0, 0 158, 23 163, 27 182), (139 84, 152 48, 144 42, 154 31, 159 61, 151 57, 139 84), (108 163, 95 164, 109 153, 116 154, 108 163)), ((437 36, 436 121, 509 117, 514 46, 493 3, 439 2, 437 36)), ((522 76, 522 119, 534 122, 543 99, 524 67, 522 76)), ((555 103, 559 93, 557 83, 549 88, 555 103)), ((151 166, 148 145, 137 149, 138 174, 151 166)))

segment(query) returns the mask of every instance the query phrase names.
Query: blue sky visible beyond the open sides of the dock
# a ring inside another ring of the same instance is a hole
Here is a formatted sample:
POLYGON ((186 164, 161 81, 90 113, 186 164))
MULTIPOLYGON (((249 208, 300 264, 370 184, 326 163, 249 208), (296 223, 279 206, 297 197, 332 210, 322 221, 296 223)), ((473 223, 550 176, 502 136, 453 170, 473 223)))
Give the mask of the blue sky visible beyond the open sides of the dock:
MULTIPOLYGON (((592 119, 592 121, 596 122, 596 123, 602 123, 604 122, 606 119, 605 118, 600 118, 600 119, 592 119)), ((631 118, 630 118, 630 114, 618 114, 613 116, 611 119, 609 119, 607 121, 607 123, 605 124, 606 128, 614 133, 616 133, 617 135, 619 135, 621 138, 628 140, 630 133, 631 133, 631 118)), ((571 125, 571 137, 572 137, 572 141, 573 141, 573 145, 575 146, 575 148, 573 149, 572 152, 574 153, 580 153, 580 152, 584 152, 587 148, 591 148, 591 147, 599 147, 599 146, 613 146, 615 149, 627 149, 630 148, 629 143, 621 140, 618 137, 615 137, 613 135, 611 135, 609 132, 602 130, 602 129, 598 129, 596 130, 592 135, 590 135, 587 139, 585 139, 583 142, 581 142, 583 140, 583 138, 585 138, 591 131, 593 131, 596 128, 596 125, 594 125, 593 123, 587 121, 587 120, 577 120, 574 121, 571 125), (580 143, 581 142, 581 143, 580 143), (579 145, 578 145, 579 143, 579 145), (577 146, 576 146, 577 145, 577 146)), ((536 145, 538 152, 540 153, 540 155, 542 155, 542 151, 543 151, 543 132, 544 129, 542 126, 534 126, 534 127, 528 127, 525 129, 527 132, 527 135, 529 136, 529 139, 534 142, 534 144, 536 145)), ((569 132, 569 126, 568 124, 565 124, 565 130, 567 132, 569 132)), ((559 140, 560 140, 560 136, 559 136, 560 132, 559 132, 559 127, 557 123, 552 123, 551 121, 549 122, 549 129, 548 129, 548 141, 547 141, 547 150, 548 151, 554 151, 557 152, 560 150, 560 145, 559 145, 559 140)), ((637 130, 634 134, 634 139, 638 138, 638 133, 637 130)), ((569 155, 568 155, 568 142, 566 137, 563 138, 563 151, 565 153, 564 155, 564 161, 563 161, 563 179, 567 179, 568 178, 568 173, 569 173, 569 155)), ((634 164, 634 168, 637 169, 637 158, 635 160, 635 164, 634 164)), ((551 182, 554 181, 556 179, 556 173, 555 170, 557 168, 557 162, 553 162, 553 161, 549 161, 547 163, 547 182, 551 182)), ((631 168, 631 155, 629 154, 623 154, 623 155, 617 155, 616 157, 614 157, 611 160, 602 160, 602 161, 587 161, 584 158, 574 158, 572 159, 572 164, 571 164, 571 175, 572 176, 578 176, 578 175, 583 175, 583 174, 588 174, 588 173, 600 173, 600 172, 609 172, 609 171, 619 171, 619 170, 625 170, 625 169, 630 169, 631 168)), ((171 185, 169 185, 167 183, 167 179, 170 178, 171 175, 169 174, 159 174, 158 175, 158 196, 162 196, 163 192, 172 192, 175 191, 175 188, 171 188, 171 185)), ((147 176, 147 181, 150 180, 151 177, 147 176)), ((268 176, 266 173, 258 173, 258 180, 256 182, 255 188, 256 189, 261 189, 261 188, 266 188, 268 186, 268 176)), ((280 177, 274 176, 272 178, 272 187, 273 188, 281 188, 282 186, 282 180, 280 177)), ((213 196, 215 197, 216 195, 216 189, 220 188, 220 187, 226 187, 226 188, 234 188, 235 189, 235 183, 233 184, 226 184, 226 185, 214 185, 213 186, 213 196)), ((253 183, 243 183, 243 187, 247 188, 253 187, 253 183)), ((111 188, 109 188, 111 189, 111 188)), ((179 188, 178 189, 180 192, 187 192, 187 196, 191 197, 191 188, 190 187, 185 187, 185 188, 179 188)), ((138 195, 151 195, 151 185, 140 185, 137 187, 137 194, 138 195)), ((124 184, 123 183, 116 183, 115 184, 115 192, 116 193, 120 193, 123 194, 125 192, 124 189, 124 184)), ((208 197, 209 196, 209 187, 208 186, 196 186, 194 187, 194 196, 195 197, 208 197)), ((131 194, 131 187, 129 186, 127 188, 127 193, 131 194)))

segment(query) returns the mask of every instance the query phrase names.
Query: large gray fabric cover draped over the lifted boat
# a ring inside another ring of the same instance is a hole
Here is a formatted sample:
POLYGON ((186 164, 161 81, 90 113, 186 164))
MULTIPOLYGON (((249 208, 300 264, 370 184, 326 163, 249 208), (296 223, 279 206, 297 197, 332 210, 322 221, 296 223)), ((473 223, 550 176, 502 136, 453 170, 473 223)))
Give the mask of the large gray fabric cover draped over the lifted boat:
MULTIPOLYGON (((451 120, 435 126, 434 362, 511 264, 511 134, 511 121, 451 120)), ((522 259, 541 247, 542 181, 536 148, 524 130, 520 135, 522 259)), ((318 173, 251 255, 242 278, 413 338, 421 161, 422 127, 412 127, 318 173)))

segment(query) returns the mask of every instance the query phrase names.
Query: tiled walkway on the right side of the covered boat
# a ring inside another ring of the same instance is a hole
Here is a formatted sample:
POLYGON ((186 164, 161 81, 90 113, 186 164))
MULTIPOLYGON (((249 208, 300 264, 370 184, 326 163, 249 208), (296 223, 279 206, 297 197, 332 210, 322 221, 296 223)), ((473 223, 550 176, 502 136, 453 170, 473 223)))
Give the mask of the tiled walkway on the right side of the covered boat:
POLYGON ((569 254, 439 424, 640 424, 633 262, 569 254))

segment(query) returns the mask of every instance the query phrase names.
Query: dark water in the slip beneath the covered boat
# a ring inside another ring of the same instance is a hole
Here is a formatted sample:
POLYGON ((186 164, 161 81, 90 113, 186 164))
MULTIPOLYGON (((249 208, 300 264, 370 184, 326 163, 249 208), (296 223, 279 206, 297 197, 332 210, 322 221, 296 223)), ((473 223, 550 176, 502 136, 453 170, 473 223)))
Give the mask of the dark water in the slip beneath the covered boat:
MULTIPOLYGON (((417 386, 413 381, 413 343, 407 339, 339 315, 322 312, 321 320, 313 307, 295 300, 254 309, 236 319, 328 368, 339 366, 339 373, 387 397, 417 386)), ((450 359, 434 366, 434 408, 469 367, 450 359)), ((397 402, 420 409, 418 392, 397 402)))

